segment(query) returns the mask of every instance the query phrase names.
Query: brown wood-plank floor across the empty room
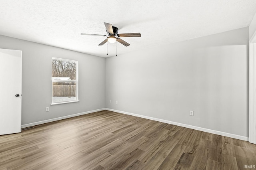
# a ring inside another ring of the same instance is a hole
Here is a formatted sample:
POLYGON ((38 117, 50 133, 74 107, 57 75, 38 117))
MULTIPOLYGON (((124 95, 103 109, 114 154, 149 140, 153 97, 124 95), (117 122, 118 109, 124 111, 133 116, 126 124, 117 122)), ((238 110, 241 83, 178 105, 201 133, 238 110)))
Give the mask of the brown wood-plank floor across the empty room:
POLYGON ((111 111, 0 136, 0 170, 242 170, 245 165, 256 166, 255 144, 111 111))

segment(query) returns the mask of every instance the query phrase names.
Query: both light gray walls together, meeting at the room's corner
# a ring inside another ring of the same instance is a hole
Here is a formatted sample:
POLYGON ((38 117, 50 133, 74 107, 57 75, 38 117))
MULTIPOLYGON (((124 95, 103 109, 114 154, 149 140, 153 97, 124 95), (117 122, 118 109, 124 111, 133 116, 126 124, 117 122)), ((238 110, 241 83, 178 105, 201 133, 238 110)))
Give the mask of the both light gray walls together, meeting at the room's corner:
POLYGON ((241 28, 107 59, 6 36, 0 48, 22 50, 22 125, 106 107, 248 136, 248 35, 241 28), (80 102, 50 106, 52 57, 78 60, 80 102))

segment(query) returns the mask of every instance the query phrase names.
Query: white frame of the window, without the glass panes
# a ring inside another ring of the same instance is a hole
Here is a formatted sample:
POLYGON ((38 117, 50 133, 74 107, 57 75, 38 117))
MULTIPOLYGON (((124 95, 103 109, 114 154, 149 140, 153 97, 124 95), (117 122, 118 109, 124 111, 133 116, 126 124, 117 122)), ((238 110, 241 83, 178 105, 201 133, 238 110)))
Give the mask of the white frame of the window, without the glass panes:
MULTIPOLYGON (((76 100, 74 101, 64 101, 64 102, 56 102, 54 103, 53 102, 53 99, 52 99, 52 103, 51 105, 60 105, 60 104, 65 104, 65 103, 74 103, 74 102, 79 102, 78 100, 78 61, 76 60, 70 60, 70 59, 63 59, 63 58, 56 58, 56 57, 52 57, 52 60, 55 59, 55 60, 63 60, 63 61, 70 61, 70 62, 75 62, 76 63, 76 80, 69 80, 69 81, 63 81, 63 80, 53 80, 52 79, 52 84, 53 82, 75 82, 76 83, 76 100)), ((53 85, 52 85, 52 94, 53 94, 53 85)), ((53 98, 53 96, 52 96, 53 98)))

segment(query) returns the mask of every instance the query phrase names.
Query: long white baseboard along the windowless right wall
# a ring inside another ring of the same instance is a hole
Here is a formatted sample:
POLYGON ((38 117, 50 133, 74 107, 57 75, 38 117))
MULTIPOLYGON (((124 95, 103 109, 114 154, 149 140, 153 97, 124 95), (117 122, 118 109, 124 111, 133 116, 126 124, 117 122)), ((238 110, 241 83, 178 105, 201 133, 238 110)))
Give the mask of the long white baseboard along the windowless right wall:
POLYGON ((196 126, 192 126, 192 125, 186 125, 186 124, 183 124, 183 123, 166 121, 164 119, 158 119, 158 118, 154 118, 154 117, 148 117, 148 116, 144 116, 144 115, 138 115, 138 114, 128 113, 128 112, 124 112, 124 111, 118 111, 118 110, 114 110, 114 109, 108 109, 108 108, 105 108, 105 109, 107 111, 123 113, 123 114, 126 114, 126 115, 141 117, 141 118, 150 119, 150 120, 153 120, 153 121, 168 123, 168 124, 171 124, 171 125, 177 125, 177 126, 180 126, 180 127, 191 128, 191 129, 200 130, 200 131, 203 131, 203 132, 208 132, 208 133, 218 134, 218 135, 221 135, 221 136, 227 136, 227 137, 230 137, 230 138, 249 141, 249 138, 246 137, 246 136, 240 136, 240 135, 237 135, 237 134, 231 134, 231 133, 227 133, 227 132, 220 132, 220 131, 217 131, 217 130, 211 130, 211 129, 207 129, 207 128, 196 127, 196 126))

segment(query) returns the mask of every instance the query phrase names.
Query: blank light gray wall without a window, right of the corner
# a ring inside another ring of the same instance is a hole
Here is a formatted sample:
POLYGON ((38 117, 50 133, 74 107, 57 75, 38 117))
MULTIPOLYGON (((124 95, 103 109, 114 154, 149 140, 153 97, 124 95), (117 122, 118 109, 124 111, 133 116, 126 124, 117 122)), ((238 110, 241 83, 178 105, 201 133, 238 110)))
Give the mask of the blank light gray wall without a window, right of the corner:
POLYGON ((241 28, 107 58, 106 108, 248 136, 248 34, 241 28))

